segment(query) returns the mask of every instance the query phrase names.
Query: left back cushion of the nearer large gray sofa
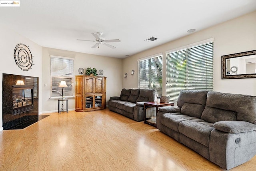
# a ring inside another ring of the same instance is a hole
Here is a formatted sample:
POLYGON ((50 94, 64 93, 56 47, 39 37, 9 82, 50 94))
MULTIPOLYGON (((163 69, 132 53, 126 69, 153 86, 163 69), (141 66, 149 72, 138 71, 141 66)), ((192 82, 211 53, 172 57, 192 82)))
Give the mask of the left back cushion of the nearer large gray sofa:
POLYGON ((177 105, 181 107, 180 113, 200 118, 204 111, 208 91, 182 90, 177 105))

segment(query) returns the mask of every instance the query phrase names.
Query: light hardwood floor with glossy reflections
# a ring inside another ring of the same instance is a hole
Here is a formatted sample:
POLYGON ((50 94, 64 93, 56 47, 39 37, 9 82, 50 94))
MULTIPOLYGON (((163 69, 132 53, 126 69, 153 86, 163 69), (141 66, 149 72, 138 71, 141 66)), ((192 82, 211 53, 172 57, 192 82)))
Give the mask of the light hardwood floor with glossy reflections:
MULTIPOLYGON (((1 171, 224 170, 155 127, 109 111, 50 113, 0 132, 1 171)), ((232 171, 252 171, 256 156, 232 171)))

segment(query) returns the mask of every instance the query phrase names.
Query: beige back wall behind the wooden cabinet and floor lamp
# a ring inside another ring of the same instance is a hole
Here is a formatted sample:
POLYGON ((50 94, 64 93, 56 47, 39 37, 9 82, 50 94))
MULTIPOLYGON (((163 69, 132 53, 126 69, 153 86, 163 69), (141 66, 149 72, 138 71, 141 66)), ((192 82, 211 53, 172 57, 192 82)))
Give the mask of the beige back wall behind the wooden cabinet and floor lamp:
MULTIPOLYGON (((52 48, 43 48, 43 78, 42 78, 42 113, 58 111, 58 100, 50 99, 50 55, 74 58, 74 73, 78 75, 78 68, 88 67, 103 70, 103 76, 107 77, 106 100, 111 96, 120 95, 122 90, 122 59, 109 58, 91 54, 83 54, 52 48), (44 84, 47 86, 44 87, 44 84)), ((75 92, 74 92, 75 93, 75 92)), ((75 109, 75 99, 68 100, 69 109, 75 109)))

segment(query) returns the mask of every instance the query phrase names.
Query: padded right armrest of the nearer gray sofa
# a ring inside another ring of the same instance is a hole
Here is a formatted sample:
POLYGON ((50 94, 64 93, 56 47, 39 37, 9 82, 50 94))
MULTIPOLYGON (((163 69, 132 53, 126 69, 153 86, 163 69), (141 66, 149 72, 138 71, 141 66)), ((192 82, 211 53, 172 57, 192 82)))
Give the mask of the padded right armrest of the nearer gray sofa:
POLYGON ((215 129, 227 133, 256 131, 256 125, 246 121, 218 121, 213 126, 215 129))

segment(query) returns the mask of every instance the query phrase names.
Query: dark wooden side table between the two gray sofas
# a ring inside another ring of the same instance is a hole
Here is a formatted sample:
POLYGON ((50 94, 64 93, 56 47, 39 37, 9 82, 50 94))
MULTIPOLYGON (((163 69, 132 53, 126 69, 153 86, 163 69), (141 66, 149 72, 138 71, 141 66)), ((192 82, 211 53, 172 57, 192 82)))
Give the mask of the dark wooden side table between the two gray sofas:
POLYGON ((174 106, 173 102, 168 103, 156 103, 156 101, 144 102, 144 123, 156 127, 156 114, 158 112, 158 107, 162 106, 174 106), (156 107, 156 112, 151 111, 149 115, 146 115, 146 109, 148 107, 156 107))

